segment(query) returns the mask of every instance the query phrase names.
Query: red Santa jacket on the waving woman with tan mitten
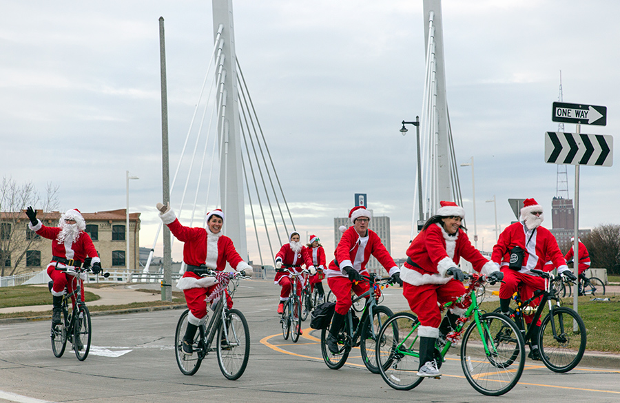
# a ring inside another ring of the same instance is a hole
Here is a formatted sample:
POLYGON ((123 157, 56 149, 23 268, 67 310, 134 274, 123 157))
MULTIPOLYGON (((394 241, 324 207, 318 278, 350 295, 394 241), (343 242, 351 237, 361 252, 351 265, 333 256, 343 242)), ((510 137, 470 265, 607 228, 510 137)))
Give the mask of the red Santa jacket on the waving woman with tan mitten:
MULTIPOLYGON (((185 227, 176 218, 172 223, 166 225, 176 239, 185 242, 183 245, 183 262, 186 265, 206 265, 223 271, 226 268, 226 262, 228 262, 237 271, 250 268, 239 256, 232 240, 223 235, 221 231, 218 234, 213 234, 205 228, 185 227)), ((183 278, 178 281, 176 287, 182 290, 205 287, 209 282, 211 279, 200 277, 191 271, 185 271, 183 278)))

